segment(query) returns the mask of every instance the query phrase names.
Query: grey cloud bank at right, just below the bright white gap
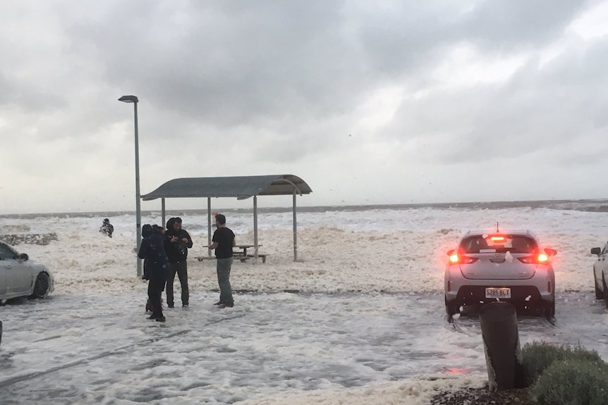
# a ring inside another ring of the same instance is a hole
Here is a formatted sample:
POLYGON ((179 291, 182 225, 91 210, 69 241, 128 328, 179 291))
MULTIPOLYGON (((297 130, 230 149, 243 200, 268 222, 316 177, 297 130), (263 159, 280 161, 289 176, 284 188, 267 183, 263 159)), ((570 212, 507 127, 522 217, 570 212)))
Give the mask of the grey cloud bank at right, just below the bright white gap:
MULTIPOLYGON (((449 100, 448 104, 456 106, 457 115, 469 126, 458 134, 458 142, 449 153, 439 155, 440 160, 458 163, 523 156, 580 141, 588 132, 593 135, 597 130, 605 131, 608 96, 595 89, 608 85, 608 75, 601 69, 601 61, 608 60, 608 42, 579 52, 578 58, 561 56, 542 70, 537 68, 537 61, 530 61, 500 87, 461 92, 458 96, 466 100, 461 104, 449 100), (468 115, 467 110, 473 114, 468 115)), ((607 149, 604 144, 597 144, 578 151, 576 158, 571 154, 562 158, 590 162, 607 149)), ((559 157, 552 158, 555 163, 561 161, 559 157)))

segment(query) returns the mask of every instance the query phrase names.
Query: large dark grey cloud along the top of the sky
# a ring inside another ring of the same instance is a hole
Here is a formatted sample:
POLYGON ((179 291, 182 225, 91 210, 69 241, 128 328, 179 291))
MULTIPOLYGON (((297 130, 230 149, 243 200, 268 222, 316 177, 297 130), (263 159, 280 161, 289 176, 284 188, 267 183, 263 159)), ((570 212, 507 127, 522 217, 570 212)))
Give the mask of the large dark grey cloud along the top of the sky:
POLYGON ((98 23, 75 23, 75 49, 103 52, 109 83, 145 89, 164 108, 217 125, 340 114, 366 89, 424 71, 450 44, 487 51, 543 44, 583 5, 480 1, 457 10, 453 2, 404 2, 356 10, 363 3, 193 2, 186 13, 184 3, 134 4, 125 13, 115 3, 98 23))

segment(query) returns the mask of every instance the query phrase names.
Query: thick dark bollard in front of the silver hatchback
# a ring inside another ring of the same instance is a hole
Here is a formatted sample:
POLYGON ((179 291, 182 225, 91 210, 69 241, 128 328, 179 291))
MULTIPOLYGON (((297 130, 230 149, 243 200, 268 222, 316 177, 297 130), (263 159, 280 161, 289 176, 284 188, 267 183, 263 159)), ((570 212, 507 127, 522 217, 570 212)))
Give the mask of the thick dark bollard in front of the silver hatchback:
POLYGON ((485 304, 479 312, 490 391, 523 387, 517 313, 508 302, 485 304))

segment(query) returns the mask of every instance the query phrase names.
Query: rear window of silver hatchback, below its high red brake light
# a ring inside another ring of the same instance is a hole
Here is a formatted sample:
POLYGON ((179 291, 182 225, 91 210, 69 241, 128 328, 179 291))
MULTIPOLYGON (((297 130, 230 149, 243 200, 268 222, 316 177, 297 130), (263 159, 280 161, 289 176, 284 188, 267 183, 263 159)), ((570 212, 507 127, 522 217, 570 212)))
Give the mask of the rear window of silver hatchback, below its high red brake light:
POLYGON ((460 249, 464 253, 535 253, 537 245, 523 235, 476 235, 463 239, 460 249))

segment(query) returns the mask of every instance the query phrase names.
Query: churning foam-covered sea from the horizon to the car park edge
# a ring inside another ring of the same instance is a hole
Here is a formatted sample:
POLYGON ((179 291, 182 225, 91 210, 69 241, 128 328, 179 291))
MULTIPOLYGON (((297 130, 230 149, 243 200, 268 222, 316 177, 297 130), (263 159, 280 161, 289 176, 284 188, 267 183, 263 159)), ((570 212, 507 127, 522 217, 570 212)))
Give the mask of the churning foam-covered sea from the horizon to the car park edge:
MULTIPOLYGON (((399 206, 298 208, 298 262, 293 261, 291 208, 260 208, 260 253, 265 271, 245 266, 238 288, 252 290, 439 291, 446 251, 467 230, 532 230, 554 258, 558 289, 591 289, 591 247, 608 238, 607 200, 511 201, 399 206), (299 276, 303 275, 302 278, 299 276), (348 277, 344 277, 348 275, 348 277)), ((253 243, 253 213, 218 209, 239 244, 253 243)), ((168 211, 180 216, 194 246, 190 258, 209 254, 207 211, 168 211)), ((143 223, 162 225, 160 211, 145 211, 143 223)), ((213 231, 213 228, 212 228, 213 231)), ((0 234, 56 235, 48 246, 18 246, 56 269, 59 290, 107 283, 112 290, 133 287, 135 216, 128 212, 0 216, 0 234), (110 239, 99 233, 103 218, 114 225, 110 239), (116 280, 123 282, 116 282, 116 280)), ((213 263, 191 264, 193 287, 212 289, 213 263), (196 269, 200 268, 201 271, 196 269)))

